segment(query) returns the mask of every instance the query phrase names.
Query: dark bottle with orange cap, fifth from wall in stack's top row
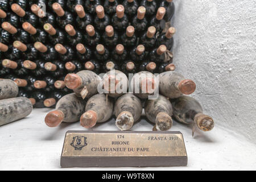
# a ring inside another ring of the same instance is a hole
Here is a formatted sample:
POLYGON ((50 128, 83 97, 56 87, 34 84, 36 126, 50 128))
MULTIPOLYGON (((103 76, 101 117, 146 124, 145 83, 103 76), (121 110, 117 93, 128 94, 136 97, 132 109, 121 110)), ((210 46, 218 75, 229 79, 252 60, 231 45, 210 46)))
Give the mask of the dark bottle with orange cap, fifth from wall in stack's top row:
POLYGON ((76 5, 75 10, 77 13, 77 27, 79 27, 81 30, 85 30, 88 24, 93 23, 92 15, 90 15, 89 13, 85 13, 84 7, 82 7, 82 5, 76 5))

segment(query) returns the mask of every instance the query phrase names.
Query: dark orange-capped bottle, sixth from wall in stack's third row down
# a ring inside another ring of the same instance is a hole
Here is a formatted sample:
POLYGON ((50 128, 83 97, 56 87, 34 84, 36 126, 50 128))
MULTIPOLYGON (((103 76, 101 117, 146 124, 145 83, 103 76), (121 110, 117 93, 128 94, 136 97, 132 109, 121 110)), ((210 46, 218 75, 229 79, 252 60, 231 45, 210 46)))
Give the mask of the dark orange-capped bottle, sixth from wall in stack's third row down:
POLYGON ((59 57, 61 61, 71 61, 75 57, 75 52, 69 46, 63 46, 62 44, 56 44, 55 50, 59 52, 59 57))

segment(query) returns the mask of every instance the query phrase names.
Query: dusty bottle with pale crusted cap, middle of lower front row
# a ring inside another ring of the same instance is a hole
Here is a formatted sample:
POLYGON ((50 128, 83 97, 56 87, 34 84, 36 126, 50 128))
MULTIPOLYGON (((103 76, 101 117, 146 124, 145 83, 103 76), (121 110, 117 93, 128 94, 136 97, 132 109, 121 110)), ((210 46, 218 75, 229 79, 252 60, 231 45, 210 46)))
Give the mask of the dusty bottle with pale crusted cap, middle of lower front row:
POLYGON ((138 122, 142 114, 141 100, 133 94, 125 94, 118 98, 114 105, 115 125, 119 130, 130 130, 138 122))

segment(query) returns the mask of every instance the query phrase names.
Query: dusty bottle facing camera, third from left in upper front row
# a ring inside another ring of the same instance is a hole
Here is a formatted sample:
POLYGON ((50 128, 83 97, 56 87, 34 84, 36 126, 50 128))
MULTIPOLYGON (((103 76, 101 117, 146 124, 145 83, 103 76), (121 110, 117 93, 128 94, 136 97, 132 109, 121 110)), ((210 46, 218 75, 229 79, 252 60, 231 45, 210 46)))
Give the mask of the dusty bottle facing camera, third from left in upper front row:
POLYGON ((151 72, 136 73, 131 79, 131 90, 135 96, 146 99, 157 89, 156 77, 151 72))

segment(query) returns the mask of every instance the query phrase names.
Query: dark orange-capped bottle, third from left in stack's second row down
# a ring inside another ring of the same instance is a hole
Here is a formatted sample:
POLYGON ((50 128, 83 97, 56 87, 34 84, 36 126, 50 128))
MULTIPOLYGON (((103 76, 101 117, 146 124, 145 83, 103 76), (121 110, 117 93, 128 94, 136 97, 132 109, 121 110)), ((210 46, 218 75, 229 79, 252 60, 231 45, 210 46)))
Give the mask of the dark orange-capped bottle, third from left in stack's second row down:
POLYGON ((64 44, 66 34, 64 31, 60 29, 55 29, 51 24, 46 23, 44 24, 44 30, 48 32, 48 39, 49 41, 55 45, 57 43, 64 44))

